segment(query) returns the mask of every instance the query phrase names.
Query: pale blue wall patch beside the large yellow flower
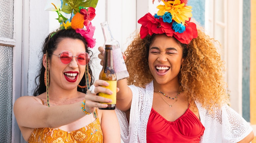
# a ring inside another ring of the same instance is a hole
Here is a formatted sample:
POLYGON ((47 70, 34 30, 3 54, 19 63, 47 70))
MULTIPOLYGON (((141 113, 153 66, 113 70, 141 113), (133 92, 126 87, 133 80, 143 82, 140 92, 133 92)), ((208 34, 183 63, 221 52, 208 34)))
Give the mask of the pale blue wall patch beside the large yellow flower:
POLYGON ((192 6, 192 17, 204 27, 205 0, 190 0, 187 5, 192 6))

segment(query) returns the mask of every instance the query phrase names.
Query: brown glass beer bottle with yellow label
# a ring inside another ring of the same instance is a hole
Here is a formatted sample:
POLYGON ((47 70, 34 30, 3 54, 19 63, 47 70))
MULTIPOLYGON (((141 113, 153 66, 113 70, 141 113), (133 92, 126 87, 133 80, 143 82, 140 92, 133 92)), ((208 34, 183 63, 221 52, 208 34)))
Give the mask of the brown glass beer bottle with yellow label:
POLYGON ((116 108, 117 101, 117 76, 113 66, 113 54, 112 54, 113 45, 105 45, 105 55, 104 55, 104 65, 102 70, 99 73, 99 79, 105 80, 109 83, 109 86, 101 86, 110 89, 113 94, 105 94, 99 92, 97 95, 105 98, 112 99, 112 103, 103 103, 108 104, 106 108, 99 108, 101 110, 114 110, 116 108))

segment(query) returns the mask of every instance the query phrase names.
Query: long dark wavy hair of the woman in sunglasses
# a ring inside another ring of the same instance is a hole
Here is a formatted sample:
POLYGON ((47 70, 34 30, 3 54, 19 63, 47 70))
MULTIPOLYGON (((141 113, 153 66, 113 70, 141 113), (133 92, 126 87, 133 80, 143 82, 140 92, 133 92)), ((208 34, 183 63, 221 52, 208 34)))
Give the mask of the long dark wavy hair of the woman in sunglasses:
MULTIPOLYGON (((81 40, 84 43, 86 52, 90 55, 90 57, 92 57, 93 52, 91 50, 89 50, 89 48, 87 47, 87 42, 81 36, 81 34, 76 33, 74 29, 67 29, 67 30, 62 29, 62 30, 57 31, 53 36, 52 35, 53 34, 48 35, 44 40, 44 43, 43 43, 43 46, 42 46, 42 51, 41 51, 42 52, 42 57, 43 57, 44 54, 46 54, 46 51, 47 51, 49 59, 51 59, 53 52, 56 50, 56 48, 58 46, 58 43, 61 40, 65 39, 65 38, 81 40), (52 37, 49 39, 49 36, 52 36, 52 37)), ((37 96, 37 95, 40 95, 40 94, 46 92, 46 86, 45 86, 45 83, 44 83, 45 67, 43 66, 43 58, 41 58, 40 62, 41 62, 41 67, 40 67, 40 70, 38 71, 38 75, 35 78, 36 87, 34 89, 33 96, 37 96)), ((90 85, 92 85, 94 83, 94 76, 92 75, 91 61, 88 63, 88 71, 91 75, 90 85)), ((79 85, 81 85, 81 86, 86 85, 85 74, 83 75, 83 78, 81 79, 79 85)), ((87 93, 86 88, 77 87, 77 91, 87 93)))

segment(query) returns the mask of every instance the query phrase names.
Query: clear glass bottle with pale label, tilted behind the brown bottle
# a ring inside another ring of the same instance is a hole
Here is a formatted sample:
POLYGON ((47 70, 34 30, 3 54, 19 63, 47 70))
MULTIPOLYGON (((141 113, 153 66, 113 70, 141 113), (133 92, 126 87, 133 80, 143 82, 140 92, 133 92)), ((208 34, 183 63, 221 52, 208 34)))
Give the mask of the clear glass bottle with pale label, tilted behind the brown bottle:
POLYGON ((105 39, 104 45, 113 46, 113 62, 114 62, 114 69, 117 75, 117 80, 128 78, 129 73, 127 71, 127 68, 122 56, 122 51, 119 47, 118 41, 113 38, 107 22, 103 22, 100 25, 101 25, 102 32, 105 39))

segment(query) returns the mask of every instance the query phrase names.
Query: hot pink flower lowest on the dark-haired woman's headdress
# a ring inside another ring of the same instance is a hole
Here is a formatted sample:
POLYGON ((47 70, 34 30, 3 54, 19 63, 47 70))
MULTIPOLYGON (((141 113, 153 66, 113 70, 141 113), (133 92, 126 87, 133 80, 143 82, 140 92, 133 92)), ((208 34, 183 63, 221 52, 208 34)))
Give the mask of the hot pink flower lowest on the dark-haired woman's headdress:
POLYGON ((76 33, 80 33, 83 38, 86 40, 88 47, 93 48, 96 44, 96 39, 93 38, 95 31, 95 26, 90 22, 89 25, 86 26, 86 29, 75 29, 76 33))

